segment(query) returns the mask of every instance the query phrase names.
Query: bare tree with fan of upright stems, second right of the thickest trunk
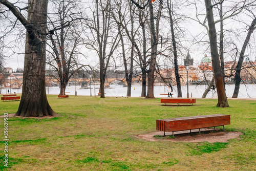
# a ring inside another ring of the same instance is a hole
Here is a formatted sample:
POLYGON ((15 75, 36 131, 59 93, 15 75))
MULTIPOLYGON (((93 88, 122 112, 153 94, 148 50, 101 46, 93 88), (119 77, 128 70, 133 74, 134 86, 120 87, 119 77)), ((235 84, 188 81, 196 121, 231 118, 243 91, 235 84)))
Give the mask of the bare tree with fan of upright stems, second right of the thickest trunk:
POLYGON ((110 59, 117 48, 120 41, 118 33, 113 30, 113 22, 111 18, 111 1, 102 2, 96 0, 95 9, 92 9, 93 18, 87 27, 90 29, 86 42, 86 47, 95 50, 99 57, 100 67, 100 97, 104 98, 104 82, 106 71, 108 70, 110 59), (107 52, 108 50, 108 52, 107 52))

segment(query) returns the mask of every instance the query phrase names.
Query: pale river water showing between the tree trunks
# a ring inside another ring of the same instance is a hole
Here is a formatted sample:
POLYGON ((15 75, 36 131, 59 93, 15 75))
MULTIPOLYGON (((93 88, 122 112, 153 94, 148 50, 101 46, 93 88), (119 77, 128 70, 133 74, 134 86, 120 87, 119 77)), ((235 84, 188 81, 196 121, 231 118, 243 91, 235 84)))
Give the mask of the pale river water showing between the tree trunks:
MULTIPOLYGON (((111 89, 105 89, 105 96, 113 96, 113 97, 120 97, 126 96, 127 88, 122 86, 115 86, 111 85, 111 89)), ((207 87, 205 85, 201 86, 188 86, 189 97, 193 98, 201 98, 205 89, 207 87)), ((173 97, 177 97, 177 87, 173 87, 173 97)), ((182 86, 182 97, 187 97, 187 87, 182 86)), ((10 90, 10 89, 9 89, 10 90)), ((47 87, 46 92, 47 94, 59 94, 60 89, 58 87, 47 87)), ((67 95, 75 95, 75 91, 77 95, 89 95, 90 96, 90 89, 80 89, 80 86, 70 86, 66 89, 67 95)), ((99 85, 96 85, 95 93, 98 94, 99 85)), ((234 84, 226 85, 226 95, 228 98, 231 98, 234 91, 234 84)), ((7 89, 3 89, 3 93, 7 93, 7 89)), ((11 89, 11 93, 22 93, 22 89, 11 89)), ((162 93, 167 93, 167 87, 164 86, 155 86, 154 87, 154 95, 155 97, 167 97, 167 95, 160 95, 162 93)), ((132 86, 132 97, 140 97, 141 95, 141 86, 132 86)), ((94 96, 94 86, 92 86, 92 96, 94 96)), ((211 90, 206 98, 217 98, 217 91, 211 90)), ((255 84, 241 84, 238 98, 256 98, 256 85, 255 84)))

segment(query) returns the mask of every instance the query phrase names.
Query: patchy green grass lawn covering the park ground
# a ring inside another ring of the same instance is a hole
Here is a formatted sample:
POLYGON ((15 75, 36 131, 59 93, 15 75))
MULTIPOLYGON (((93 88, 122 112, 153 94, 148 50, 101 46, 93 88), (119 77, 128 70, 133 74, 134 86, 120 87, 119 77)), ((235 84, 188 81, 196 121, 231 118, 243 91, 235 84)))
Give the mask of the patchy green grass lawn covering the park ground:
MULTIPOLYGON (((57 118, 8 118, 9 168, 1 131, 0 170, 256 170, 256 101, 197 99, 193 106, 163 106, 160 99, 49 95, 57 118), (230 114, 228 143, 148 142, 134 138, 156 132, 156 119, 230 114)), ((19 101, 0 102, 0 115, 15 113, 19 101)), ((1 130, 4 118, 0 118, 1 130)))

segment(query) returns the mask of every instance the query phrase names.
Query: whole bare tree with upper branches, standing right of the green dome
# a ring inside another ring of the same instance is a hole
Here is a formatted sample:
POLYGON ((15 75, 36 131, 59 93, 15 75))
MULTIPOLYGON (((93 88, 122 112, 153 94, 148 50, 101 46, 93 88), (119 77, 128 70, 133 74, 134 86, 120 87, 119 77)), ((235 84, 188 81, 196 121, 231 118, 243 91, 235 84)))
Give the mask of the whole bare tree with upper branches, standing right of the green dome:
MULTIPOLYGON (((225 1, 218 1, 217 3, 212 5, 211 1, 205 1, 206 16, 205 16, 205 19, 203 22, 201 22, 199 20, 200 15, 197 14, 197 19, 198 19, 199 23, 206 28, 209 39, 210 39, 212 65, 214 68, 215 77, 218 77, 218 78, 215 78, 218 99, 219 99, 217 106, 222 106, 222 107, 228 106, 226 95, 225 95, 225 81, 224 81, 224 72, 225 71, 224 71, 224 48, 223 48, 224 47, 223 21, 228 18, 238 15, 246 7, 253 6, 255 1, 254 0, 252 0, 252 1, 245 0, 245 1, 240 1, 240 2, 231 1, 231 2, 229 2, 229 7, 227 8, 227 10, 225 12, 223 12, 222 4, 224 2, 225 1), (213 9, 218 6, 220 6, 220 9, 219 9, 220 17, 215 21, 213 9), (208 22, 208 26, 206 26, 206 22, 208 22), (215 36, 217 36, 217 32, 216 32, 216 28, 215 28, 215 25, 217 23, 220 23, 220 56, 218 55, 217 37, 215 37, 215 36), (212 48, 217 48, 217 50, 212 49, 212 48), (220 71, 222 72, 222 74, 217 75, 217 73, 219 73, 220 71), (220 76, 222 77, 223 81, 220 81, 220 79, 221 79, 220 76), (221 86, 221 84, 223 84, 223 86, 221 86)), ((195 1, 195 4, 196 4, 196 1, 195 1)), ((196 11, 198 12, 197 7, 196 7, 196 11)), ((201 16, 203 16, 203 15, 201 15, 201 16)))

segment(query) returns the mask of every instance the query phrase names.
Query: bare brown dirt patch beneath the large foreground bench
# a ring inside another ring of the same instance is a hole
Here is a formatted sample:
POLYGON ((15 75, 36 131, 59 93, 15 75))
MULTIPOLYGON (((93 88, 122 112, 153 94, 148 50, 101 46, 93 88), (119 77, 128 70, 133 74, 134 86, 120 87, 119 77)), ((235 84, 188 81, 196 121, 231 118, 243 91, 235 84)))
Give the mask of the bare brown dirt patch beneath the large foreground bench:
POLYGON ((147 141, 228 142, 229 139, 239 138, 239 136, 243 135, 243 133, 223 132, 220 130, 213 129, 201 129, 201 134, 199 134, 199 130, 192 130, 191 133, 190 131, 179 131, 174 132, 174 137, 172 135, 172 132, 166 132, 165 136, 163 136, 163 132, 153 132, 150 134, 137 135, 135 137, 147 141))

